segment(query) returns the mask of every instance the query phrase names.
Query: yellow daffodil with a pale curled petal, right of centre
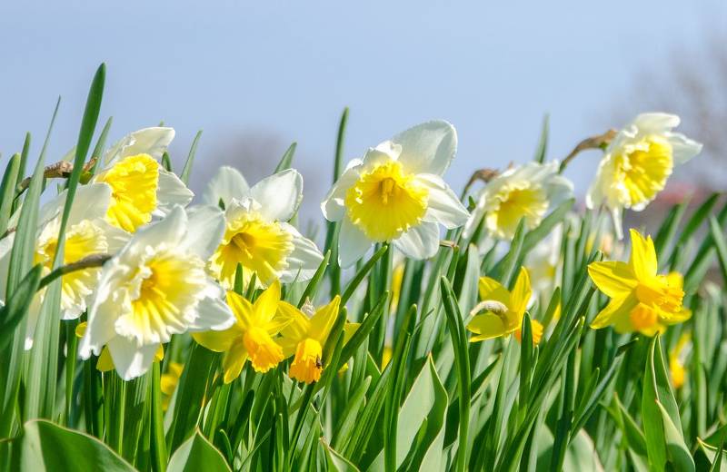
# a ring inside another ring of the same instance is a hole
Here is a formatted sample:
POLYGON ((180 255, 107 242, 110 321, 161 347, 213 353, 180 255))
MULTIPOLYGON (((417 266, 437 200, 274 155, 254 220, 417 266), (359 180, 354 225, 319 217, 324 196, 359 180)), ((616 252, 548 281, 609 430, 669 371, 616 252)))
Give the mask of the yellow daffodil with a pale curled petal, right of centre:
MULTIPOLYGON (((485 312, 475 314, 467 324, 467 329, 474 333, 470 341, 499 338, 521 329, 525 310, 532 295, 528 271, 524 267, 520 269, 512 291, 489 277, 481 277, 479 286, 480 298, 483 301, 473 312, 482 310, 485 312)), ((535 329, 533 329, 533 339, 534 332, 535 329)))

